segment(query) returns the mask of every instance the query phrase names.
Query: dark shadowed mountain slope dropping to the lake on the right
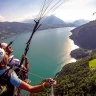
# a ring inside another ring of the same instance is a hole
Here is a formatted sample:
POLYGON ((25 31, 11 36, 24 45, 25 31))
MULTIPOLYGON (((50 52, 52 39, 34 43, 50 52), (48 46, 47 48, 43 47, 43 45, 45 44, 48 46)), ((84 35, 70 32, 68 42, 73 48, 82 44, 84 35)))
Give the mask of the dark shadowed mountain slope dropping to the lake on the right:
POLYGON ((96 20, 90 21, 71 30, 70 38, 83 49, 96 48, 96 20))

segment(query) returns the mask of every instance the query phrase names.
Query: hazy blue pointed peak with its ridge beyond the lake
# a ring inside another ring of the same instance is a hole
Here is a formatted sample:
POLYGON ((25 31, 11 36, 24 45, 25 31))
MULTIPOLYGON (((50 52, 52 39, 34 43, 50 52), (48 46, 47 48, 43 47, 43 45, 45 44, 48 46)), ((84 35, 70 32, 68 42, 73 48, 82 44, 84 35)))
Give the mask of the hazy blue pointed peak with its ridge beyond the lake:
MULTIPOLYGON (((26 19, 24 21, 22 21, 23 23, 32 23, 34 24, 34 20, 33 19, 26 19)), ((41 19, 41 24, 43 27, 74 27, 75 25, 73 23, 66 23, 63 20, 61 20, 60 18, 51 15, 51 16, 47 16, 44 17, 43 19, 41 19), (43 22, 43 23, 42 23, 43 22)))

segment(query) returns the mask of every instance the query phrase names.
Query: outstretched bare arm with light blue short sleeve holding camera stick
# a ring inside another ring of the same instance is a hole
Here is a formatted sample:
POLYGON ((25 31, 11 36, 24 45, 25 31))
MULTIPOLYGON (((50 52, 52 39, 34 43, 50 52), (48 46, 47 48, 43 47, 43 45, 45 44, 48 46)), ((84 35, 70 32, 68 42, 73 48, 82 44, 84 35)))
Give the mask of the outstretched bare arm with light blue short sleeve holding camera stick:
POLYGON ((43 84, 32 86, 27 84, 26 82, 20 80, 16 73, 13 71, 11 73, 10 82, 13 86, 19 87, 20 89, 24 89, 26 91, 29 91, 30 93, 37 93, 40 92, 46 88, 51 87, 51 84, 53 86, 56 85, 56 81, 52 82, 52 78, 47 78, 43 84))

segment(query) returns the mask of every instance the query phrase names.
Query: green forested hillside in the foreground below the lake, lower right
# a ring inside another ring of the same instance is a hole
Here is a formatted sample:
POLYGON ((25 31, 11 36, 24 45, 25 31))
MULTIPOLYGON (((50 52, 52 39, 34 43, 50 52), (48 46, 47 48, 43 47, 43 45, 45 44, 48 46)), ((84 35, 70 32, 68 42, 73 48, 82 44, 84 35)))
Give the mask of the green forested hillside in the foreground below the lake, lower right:
POLYGON ((55 78, 55 96, 96 96, 96 70, 89 67, 95 58, 96 54, 65 65, 55 78))

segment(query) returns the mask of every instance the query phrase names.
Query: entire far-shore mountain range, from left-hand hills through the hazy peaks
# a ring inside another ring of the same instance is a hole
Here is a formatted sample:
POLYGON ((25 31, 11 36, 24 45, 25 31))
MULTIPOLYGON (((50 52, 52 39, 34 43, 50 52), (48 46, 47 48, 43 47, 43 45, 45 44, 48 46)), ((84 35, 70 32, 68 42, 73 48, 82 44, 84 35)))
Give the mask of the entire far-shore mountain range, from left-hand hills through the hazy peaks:
MULTIPOLYGON (((77 27, 81 24, 86 23, 86 21, 83 20, 81 23, 81 20, 74 21, 73 23, 66 23, 63 20, 57 18, 54 15, 48 16, 43 18, 40 21, 40 28, 38 30, 44 30, 49 28, 60 28, 60 27, 77 27), (43 23, 42 23, 43 22, 43 23)), ((34 28, 34 20, 33 19, 27 19, 22 22, 0 22, 0 39, 8 38, 10 36, 13 36, 19 32, 29 32, 32 31, 34 28)))

